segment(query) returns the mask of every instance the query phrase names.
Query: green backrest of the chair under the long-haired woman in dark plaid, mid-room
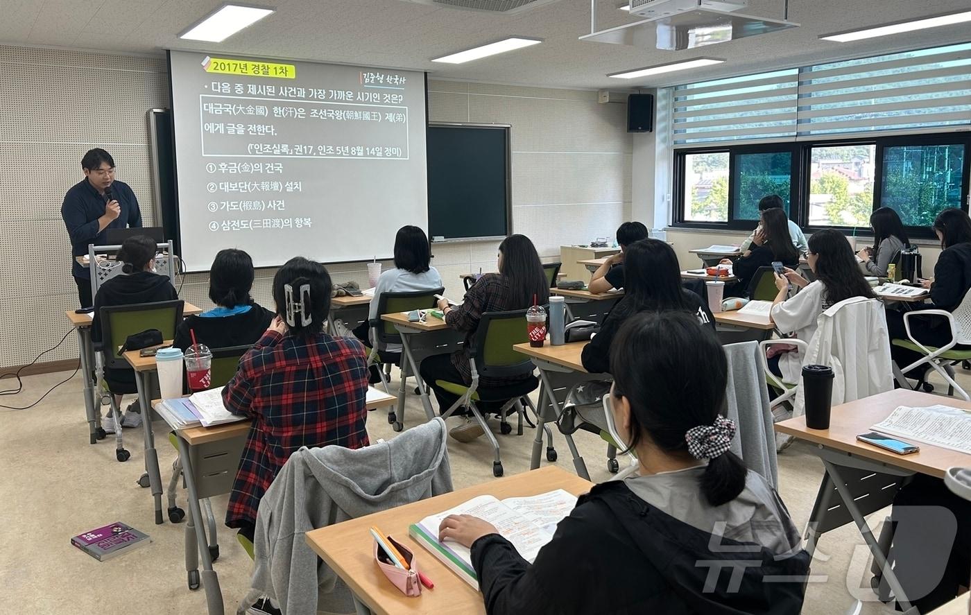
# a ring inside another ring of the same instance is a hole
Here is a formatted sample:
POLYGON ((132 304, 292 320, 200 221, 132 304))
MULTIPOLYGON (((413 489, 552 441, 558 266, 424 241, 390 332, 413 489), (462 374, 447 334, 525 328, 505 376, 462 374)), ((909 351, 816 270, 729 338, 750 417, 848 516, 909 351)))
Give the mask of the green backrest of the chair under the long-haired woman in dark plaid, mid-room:
POLYGON ((470 348, 480 376, 503 378, 533 372, 529 358, 513 348, 529 341, 526 310, 486 311, 470 348))

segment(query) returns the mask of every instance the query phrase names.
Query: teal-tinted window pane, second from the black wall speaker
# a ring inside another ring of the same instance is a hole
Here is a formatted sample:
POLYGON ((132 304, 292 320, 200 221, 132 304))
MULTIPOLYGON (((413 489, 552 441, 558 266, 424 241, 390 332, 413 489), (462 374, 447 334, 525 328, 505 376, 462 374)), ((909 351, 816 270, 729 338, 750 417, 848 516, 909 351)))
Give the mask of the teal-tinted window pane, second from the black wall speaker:
POLYGON ((757 220, 762 197, 778 194, 789 212, 792 186, 792 152, 739 153, 732 171, 732 203, 736 220, 757 220))

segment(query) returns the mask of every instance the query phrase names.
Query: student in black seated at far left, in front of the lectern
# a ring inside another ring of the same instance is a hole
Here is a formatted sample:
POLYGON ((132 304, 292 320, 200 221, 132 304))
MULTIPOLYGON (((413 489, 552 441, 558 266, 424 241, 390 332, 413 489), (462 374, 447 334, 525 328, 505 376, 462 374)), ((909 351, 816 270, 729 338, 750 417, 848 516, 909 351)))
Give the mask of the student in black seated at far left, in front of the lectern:
MULTIPOLYGON (((91 320, 91 340, 96 344, 101 340, 101 308, 106 306, 131 306, 151 304, 159 301, 179 299, 176 289, 168 276, 155 273, 155 243, 145 235, 129 237, 121 244, 117 260, 124 263, 122 275, 106 280, 98 288, 94 297, 94 313, 91 320)), ((135 371, 131 368, 105 368, 105 382, 108 383, 118 405, 121 394, 136 393, 135 371)), ((138 427, 142 424, 138 402, 125 409, 121 417, 122 427, 138 427)), ((101 427, 107 434, 115 433, 115 418, 108 413, 101 427)))

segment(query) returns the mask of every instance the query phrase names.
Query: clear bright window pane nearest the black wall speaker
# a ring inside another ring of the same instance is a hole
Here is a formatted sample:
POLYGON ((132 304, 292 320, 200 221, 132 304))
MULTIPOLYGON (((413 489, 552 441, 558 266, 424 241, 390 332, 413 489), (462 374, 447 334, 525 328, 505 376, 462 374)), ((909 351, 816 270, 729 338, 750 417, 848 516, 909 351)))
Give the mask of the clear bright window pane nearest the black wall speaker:
POLYGON ((685 220, 728 221, 728 152, 687 154, 684 159, 685 220))

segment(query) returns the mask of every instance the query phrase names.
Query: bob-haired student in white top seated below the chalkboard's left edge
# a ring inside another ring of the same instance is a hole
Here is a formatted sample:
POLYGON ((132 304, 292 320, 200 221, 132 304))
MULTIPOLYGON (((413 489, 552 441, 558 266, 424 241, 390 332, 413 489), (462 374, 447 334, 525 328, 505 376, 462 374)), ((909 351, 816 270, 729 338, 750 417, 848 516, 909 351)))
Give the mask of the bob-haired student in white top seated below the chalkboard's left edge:
MULTIPOLYGON (((442 276, 430 263, 431 247, 424 231, 417 226, 403 226, 398 229, 398 234, 394 238, 394 269, 383 272, 378 278, 378 283, 374 287, 374 297, 368 307, 368 320, 380 316, 378 303, 384 293, 409 293, 442 288, 442 276)), ((362 322, 353 330, 354 337, 368 346, 371 345, 369 333, 370 326, 367 322, 362 322)), ((380 348, 380 350, 388 355, 400 355, 401 344, 388 344, 386 348, 380 348)), ((369 380, 372 384, 381 382, 378 366, 371 366, 369 380)))

